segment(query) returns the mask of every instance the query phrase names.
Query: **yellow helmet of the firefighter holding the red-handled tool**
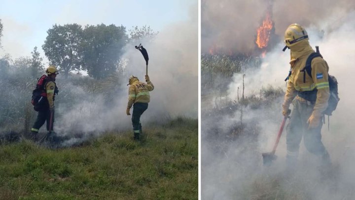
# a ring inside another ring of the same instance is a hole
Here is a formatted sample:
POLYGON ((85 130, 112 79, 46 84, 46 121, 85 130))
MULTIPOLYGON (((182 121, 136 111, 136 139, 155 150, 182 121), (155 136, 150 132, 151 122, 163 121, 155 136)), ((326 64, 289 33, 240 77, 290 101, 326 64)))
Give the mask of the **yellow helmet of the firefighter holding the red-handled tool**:
POLYGON ((308 40, 307 31, 299 24, 289 25, 284 35, 284 42, 286 43, 286 46, 293 46, 301 40, 308 40))

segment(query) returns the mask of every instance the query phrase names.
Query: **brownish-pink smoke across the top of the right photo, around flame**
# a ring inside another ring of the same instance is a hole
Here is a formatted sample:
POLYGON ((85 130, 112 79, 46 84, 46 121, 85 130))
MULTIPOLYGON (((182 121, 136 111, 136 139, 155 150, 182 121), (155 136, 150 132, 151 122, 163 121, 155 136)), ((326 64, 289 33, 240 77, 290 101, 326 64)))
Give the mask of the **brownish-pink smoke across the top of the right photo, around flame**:
POLYGON ((354 10, 353 0, 202 0, 201 51, 215 47, 222 52, 251 53, 256 47, 256 29, 269 12, 275 23, 275 33, 284 37, 292 23, 316 26, 324 31, 336 30, 347 13, 354 10), (332 23, 332 26, 325 26, 332 23))

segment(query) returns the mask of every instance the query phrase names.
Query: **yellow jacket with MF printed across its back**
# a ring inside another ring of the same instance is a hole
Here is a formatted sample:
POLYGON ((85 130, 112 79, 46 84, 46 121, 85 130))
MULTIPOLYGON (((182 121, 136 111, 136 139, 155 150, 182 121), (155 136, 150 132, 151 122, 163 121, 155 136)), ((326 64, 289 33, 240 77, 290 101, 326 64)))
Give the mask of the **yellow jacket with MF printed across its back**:
POLYGON ((149 91, 154 89, 154 85, 150 80, 147 83, 140 82, 137 78, 133 78, 130 81, 130 87, 128 89, 128 105, 130 109, 134 103, 149 103, 150 95, 149 91))

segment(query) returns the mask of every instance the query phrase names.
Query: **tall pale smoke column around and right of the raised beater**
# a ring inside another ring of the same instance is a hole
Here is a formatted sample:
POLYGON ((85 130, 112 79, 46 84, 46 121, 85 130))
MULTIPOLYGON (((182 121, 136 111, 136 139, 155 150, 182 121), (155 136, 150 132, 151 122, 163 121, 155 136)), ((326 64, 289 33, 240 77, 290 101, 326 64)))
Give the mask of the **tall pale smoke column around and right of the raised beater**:
MULTIPOLYGON (((170 25, 155 40, 142 42, 149 54, 148 75, 155 86, 149 105, 152 110, 172 116, 198 117, 196 13, 197 4, 190 8, 191 21, 170 25)), ((133 44, 127 46, 123 57, 132 61, 127 66, 129 75, 144 81, 145 61, 133 44)))

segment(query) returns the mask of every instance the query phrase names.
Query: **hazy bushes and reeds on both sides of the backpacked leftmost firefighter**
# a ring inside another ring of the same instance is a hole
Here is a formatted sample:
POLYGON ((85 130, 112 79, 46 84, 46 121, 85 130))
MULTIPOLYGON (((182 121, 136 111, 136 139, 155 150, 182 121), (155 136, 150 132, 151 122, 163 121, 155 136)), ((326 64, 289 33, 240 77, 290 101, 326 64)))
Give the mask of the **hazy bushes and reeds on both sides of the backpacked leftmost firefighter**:
MULTIPOLYGON (((34 77, 26 76, 31 73, 32 68, 23 70, 24 74, 17 74, 18 68, 16 66, 10 65, 9 69, 14 73, 8 73, 3 78, 0 74, 0 132, 29 130, 37 115, 31 104, 32 90, 35 89, 37 80, 34 77), (14 108, 16 109, 14 110, 14 108)), ((66 81, 59 79, 60 91, 56 97, 56 108, 59 110, 56 112, 58 121, 65 112, 82 102, 82 99, 77 95, 78 88, 82 88, 85 92, 85 101, 93 102, 96 96, 103 96, 108 105, 108 102, 115 96, 107 88, 117 85, 117 82, 122 82, 122 79, 119 72, 112 73, 105 80, 95 80, 79 75, 72 75, 66 81), (63 110, 59 109, 61 105, 64 105, 63 110)))

